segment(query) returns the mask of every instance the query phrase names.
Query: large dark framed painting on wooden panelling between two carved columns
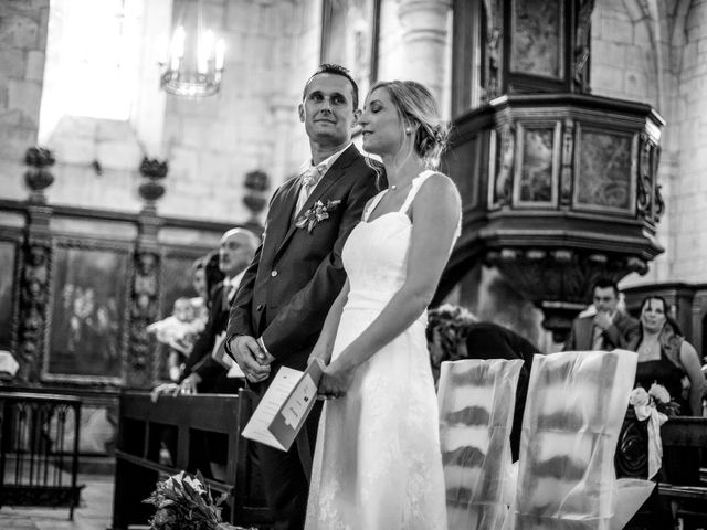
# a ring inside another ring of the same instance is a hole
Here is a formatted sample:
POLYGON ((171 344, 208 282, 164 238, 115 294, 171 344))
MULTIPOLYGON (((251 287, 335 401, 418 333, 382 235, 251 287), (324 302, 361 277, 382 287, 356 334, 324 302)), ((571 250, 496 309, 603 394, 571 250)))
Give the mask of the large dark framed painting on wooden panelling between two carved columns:
POLYGON ((43 379, 120 382, 127 348, 129 264, 126 246, 56 242, 43 379))

